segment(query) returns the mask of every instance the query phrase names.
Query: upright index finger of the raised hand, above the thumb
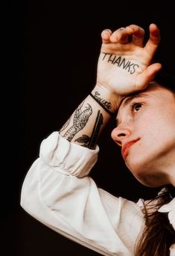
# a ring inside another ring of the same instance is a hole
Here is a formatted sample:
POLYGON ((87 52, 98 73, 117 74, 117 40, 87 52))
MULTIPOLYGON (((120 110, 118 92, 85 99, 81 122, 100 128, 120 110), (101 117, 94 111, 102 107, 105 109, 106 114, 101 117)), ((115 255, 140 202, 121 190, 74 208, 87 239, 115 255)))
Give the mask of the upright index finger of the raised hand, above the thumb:
POLYGON ((159 28, 156 24, 150 24, 150 38, 145 45, 145 49, 149 55, 153 55, 156 52, 160 42, 159 28))

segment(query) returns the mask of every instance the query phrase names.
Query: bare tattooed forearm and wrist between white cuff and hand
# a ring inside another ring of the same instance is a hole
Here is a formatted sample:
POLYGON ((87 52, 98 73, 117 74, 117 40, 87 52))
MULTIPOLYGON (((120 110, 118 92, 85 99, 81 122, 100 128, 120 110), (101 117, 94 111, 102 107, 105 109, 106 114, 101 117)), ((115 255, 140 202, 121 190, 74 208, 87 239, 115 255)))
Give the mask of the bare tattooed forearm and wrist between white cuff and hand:
POLYGON ((118 109, 120 97, 96 85, 60 129, 60 135, 83 147, 95 148, 101 131, 118 109))

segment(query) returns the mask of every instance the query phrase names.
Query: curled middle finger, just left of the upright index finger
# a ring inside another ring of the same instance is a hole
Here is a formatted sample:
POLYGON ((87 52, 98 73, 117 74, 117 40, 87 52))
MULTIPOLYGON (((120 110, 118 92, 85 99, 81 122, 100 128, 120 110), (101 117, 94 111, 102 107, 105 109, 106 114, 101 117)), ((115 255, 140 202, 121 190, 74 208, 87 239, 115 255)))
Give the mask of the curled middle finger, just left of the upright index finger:
POLYGON ((136 46, 143 46, 144 41, 144 29, 139 25, 129 25, 126 27, 127 33, 132 35, 132 43, 136 46))

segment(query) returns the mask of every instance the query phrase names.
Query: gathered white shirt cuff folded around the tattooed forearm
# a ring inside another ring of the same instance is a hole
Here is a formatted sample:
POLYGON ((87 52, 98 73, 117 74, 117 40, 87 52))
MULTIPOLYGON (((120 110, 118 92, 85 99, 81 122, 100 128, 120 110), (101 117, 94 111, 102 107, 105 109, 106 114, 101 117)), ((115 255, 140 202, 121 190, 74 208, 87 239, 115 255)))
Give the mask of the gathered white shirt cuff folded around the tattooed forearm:
POLYGON ((97 162, 98 151, 98 145, 95 150, 90 150, 67 141, 59 132, 52 132, 42 141, 39 157, 56 171, 84 177, 97 162))

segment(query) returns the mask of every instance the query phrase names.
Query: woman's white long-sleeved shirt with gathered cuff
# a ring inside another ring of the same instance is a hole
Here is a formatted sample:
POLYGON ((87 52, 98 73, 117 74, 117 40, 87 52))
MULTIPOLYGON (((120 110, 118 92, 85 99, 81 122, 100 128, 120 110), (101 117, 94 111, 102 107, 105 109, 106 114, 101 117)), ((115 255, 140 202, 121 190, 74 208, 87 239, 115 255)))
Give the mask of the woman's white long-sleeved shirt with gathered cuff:
MULTIPOLYGON (((141 206, 99 189, 88 176, 98 151, 53 132, 25 177, 21 205, 39 222, 101 255, 131 256, 144 228, 141 206)), ((175 229, 175 198, 159 211, 168 212, 175 229)), ((175 245, 170 250, 175 255, 175 245)))

